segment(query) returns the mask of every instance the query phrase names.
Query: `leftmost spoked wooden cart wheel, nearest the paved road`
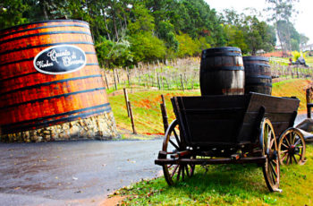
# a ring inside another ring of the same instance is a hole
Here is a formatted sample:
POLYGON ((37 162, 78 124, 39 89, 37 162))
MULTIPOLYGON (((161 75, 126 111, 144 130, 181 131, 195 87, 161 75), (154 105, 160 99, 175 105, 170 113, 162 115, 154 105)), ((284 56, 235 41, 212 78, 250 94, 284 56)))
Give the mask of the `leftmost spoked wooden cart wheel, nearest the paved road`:
MULTIPOLYGON (((186 146, 181 141, 181 135, 179 133, 179 124, 175 119, 168 127, 165 133, 165 140, 163 142, 163 151, 167 152, 167 155, 175 154, 177 151, 186 150, 186 146)), ((194 158, 194 157, 184 157, 194 158)), ((181 179, 184 181, 185 176, 193 176, 195 165, 193 164, 165 164, 163 166, 163 172, 165 180, 168 185, 174 185, 181 179)))

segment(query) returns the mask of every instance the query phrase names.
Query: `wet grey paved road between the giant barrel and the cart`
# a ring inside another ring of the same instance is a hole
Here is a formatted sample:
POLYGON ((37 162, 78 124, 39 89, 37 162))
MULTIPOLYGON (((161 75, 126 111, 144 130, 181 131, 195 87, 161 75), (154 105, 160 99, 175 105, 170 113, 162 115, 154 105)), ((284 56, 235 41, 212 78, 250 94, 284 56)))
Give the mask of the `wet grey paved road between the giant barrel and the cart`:
POLYGON ((157 176, 161 140, 0 143, 0 205, 97 205, 157 176))

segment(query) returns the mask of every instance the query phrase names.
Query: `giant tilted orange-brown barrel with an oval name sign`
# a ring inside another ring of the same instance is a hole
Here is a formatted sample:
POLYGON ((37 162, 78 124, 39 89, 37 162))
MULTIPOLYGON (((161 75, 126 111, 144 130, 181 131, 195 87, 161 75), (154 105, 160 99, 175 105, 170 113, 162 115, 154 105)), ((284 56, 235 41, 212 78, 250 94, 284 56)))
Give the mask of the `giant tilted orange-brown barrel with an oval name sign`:
POLYGON ((0 30, 2 134, 109 111, 87 22, 40 21, 0 30))

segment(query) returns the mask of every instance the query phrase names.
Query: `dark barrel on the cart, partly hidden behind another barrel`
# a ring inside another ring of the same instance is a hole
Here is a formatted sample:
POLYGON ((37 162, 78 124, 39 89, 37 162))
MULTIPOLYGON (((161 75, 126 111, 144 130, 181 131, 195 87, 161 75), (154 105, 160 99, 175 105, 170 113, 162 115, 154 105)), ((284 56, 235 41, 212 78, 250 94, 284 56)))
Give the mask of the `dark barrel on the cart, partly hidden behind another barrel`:
POLYGON ((243 56, 245 69, 245 93, 250 91, 272 94, 272 76, 268 58, 265 56, 243 56))

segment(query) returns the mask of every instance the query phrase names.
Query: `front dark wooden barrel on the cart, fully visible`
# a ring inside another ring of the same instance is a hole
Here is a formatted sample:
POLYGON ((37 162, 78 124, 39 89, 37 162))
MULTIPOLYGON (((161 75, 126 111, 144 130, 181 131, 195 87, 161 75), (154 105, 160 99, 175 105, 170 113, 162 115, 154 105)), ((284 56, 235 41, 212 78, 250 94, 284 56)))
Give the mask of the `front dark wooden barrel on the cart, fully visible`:
POLYGON ((244 94, 244 68, 240 48, 215 47, 202 51, 200 90, 202 95, 244 94))

